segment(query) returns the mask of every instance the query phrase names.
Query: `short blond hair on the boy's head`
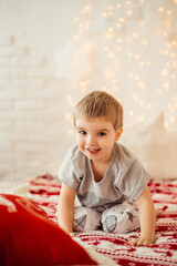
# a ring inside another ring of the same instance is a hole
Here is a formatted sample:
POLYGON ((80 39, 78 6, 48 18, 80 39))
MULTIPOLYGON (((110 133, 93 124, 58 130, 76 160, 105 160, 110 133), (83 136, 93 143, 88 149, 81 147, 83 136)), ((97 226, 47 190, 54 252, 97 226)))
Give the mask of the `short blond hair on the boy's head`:
POLYGON ((122 104, 114 96, 103 91, 92 91, 76 104, 73 113, 74 125, 75 119, 79 116, 104 117, 113 124, 115 130, 123 126, 122 104))

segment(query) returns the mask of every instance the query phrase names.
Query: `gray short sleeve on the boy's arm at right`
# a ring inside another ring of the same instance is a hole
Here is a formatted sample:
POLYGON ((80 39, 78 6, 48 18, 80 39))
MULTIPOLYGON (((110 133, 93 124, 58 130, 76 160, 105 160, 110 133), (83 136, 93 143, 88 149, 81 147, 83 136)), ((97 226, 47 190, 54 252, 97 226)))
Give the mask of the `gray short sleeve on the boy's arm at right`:
POLYGON ((118 190, 122 194, 136 201, 147 186, 149 174, 138 160, 135 160, 119 178, 118 190))

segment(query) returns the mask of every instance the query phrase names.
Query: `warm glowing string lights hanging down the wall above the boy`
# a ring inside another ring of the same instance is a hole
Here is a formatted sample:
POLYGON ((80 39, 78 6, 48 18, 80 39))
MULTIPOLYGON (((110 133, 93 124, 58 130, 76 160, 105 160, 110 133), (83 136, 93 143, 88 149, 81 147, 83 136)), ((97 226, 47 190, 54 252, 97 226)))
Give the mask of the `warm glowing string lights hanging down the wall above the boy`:
MULTIPOLYGON (((145 3, 145 1, 139 0, 140 8, 143 8, 143 3, 145 3)), ((177 0, 174 0, 174 4, 177 4, 177 0)), ((146 71, 150 71, 150 69, 154 68, 155 61, 150 54, 152 40, 148 38, 148 34, 145 37, 145 31, 143 31, 143 27, 145 30, 148 30, 148 28, 146 28, 148 27, 148 24, 146 23, 146 21, 143 21, 140 17, 135 19, 135 17, 133 16, 135 11, 134 8, 135 6, 131 0, 126 0, 124 4, 122 1, 117 1, 115 6, 106 7, 105 10, 102 11, 100 18, 103 22, 102 27, 105 27, 104 29, 101 27, 100 32, 94 32, 95 28, 94 24, 92 24, 91 20, 94 17, 91 16, 94 11, 94 7, 91 7, 90 4, 84 6, 84 8, 81 10, 81 17, 75 16, 73 18, 74 24, 76 27, 76 34, 73 39, 79 44, 79 47, 82 47, 83 53, 86 54, 86 59, 88 59, 90 63, 93 65, 95 62, 90 55, 91 51, 93 51, 93 47, 91 43, 85 42, 85 40, 87 41, 91 38, 93 42, 95 41, 95 45, 98 45, 98 49, 95 49, 95 51, 102 51, 102 53, 104 53, 105 65, 102 65, 103 79, 100 85, 101 90, 107 91, 113 94, 114 92, 118 91, 118 93, 122 94, 122 91, 124 89, 118 88, 123 79, 122 76, 124 76, 125 80, 125 76, 128 76, 128 85, 131 90, 134 89, 136 90, 136 92, 132 93, 132 101, 135 103, 135 106, 133 105, 133 108, 127 111, 127 113, 131 116, 132 121, 142 122, 145 120, 145 116, 143 114, 137 115, 137 112, 135 112, 134 108, 136 109, 136 106, 138 105, 140 112, 150 112, 155 108, 153 99, 152 101, 149 101, 148 99, 148 102, 146 102, 144 96, 142 96, 148 93, 148 88, 150 90, 152 85, 150 79, 146 80, 146 74, 144 73, 149 73, 146 71), (125 4, 127 7, 125 7, 125 4), (119 13, 119 16, 117 16, 117 13, 119 13), (138 27, 136 31, 133 31, 132 34, 128 34, 126 31, 126 25, 128 27, 131 20, 134 20, 134 22, 136 22, 138 27), (103 38, 103 42, 101 40, 100 44, 96 42, 97 37, 103 38), (128 72, 128 69, 126 72, 126 68, 124 69, 124 63, 126 66, 131 65, 132 72, 128 72), (124 72, 125 75, 122 74, 124 72)), ((156 29, 158 30, 157 34, 159 34, 157 41, 162 41, 157 54, 157 60, 159 60, 162 65, 159 66, 157 74, 162 78, 162 80, 159 81, 159 86, 158 89, 156 89, 155 93, 157 93, 159 99, 164 99, 167 95, 167 92, 169 92, 170 88, 174 88, 174 84, 177 80, 177 40, 175 40, 176 35, 174 31, 171 34, 169 33, 173 27, 171 18, 174 18, 175 13, 173 8, 164 6, 156 8, 156 13, 162 21, 158 29, 156 29)), ((83 55, 83 53, 81 54, 83 55)), ((70 64, 73 69, 82 69, 82 66, 80 68, 77 55, 72 57, 70 64)), ((91 84, 92 74, 84 73, 76 82, 74 89, 77 88, 80 92, 85 93, 92 88, 91 84)), ((66 100, 71 108, 74 106, 75 101, 73 100, 71 94, 66 96, 66 100)), ((168 115, 165 124, 166 127, 169 127, 171 123, 175 124, 175 122, 177 121, 177 95, 171 96, 171 103, 169 104, 169 106, 170 108, 168 108, 168 112, 173 115, 168 115)), ((71 114, 66 113, 65 119, 70 121, 71 114)), ((67 134, 72 134, 72 132, 67 132, 67 134)))

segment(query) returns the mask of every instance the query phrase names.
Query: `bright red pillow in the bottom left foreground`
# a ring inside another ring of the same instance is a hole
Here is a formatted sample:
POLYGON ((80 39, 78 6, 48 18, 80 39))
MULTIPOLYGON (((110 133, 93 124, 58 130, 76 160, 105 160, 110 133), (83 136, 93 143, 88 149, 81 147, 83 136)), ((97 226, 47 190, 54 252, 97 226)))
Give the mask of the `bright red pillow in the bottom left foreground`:
POLYGON ((97 265, 30 200, 0 194, 0 265, 97 265))

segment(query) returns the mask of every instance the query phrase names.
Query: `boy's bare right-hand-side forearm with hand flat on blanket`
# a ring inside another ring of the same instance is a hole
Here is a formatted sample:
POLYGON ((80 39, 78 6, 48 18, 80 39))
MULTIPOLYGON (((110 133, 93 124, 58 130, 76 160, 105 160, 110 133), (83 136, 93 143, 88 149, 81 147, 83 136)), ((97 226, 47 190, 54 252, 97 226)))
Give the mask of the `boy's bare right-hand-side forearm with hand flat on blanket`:
POLYGON ((134 246, 152 246, 155 238, 156 211, 148 188, 136 201, 139 208, 140 238, 131 242, 134 246))

